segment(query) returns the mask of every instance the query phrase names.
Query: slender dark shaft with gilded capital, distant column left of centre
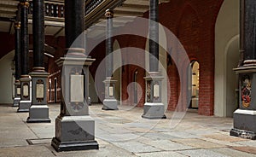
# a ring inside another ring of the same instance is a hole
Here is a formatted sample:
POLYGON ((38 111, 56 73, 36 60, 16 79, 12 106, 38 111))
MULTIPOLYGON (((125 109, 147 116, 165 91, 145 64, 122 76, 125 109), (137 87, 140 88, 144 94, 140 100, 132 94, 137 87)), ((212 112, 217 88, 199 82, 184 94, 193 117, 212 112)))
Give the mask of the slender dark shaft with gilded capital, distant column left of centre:
POLYGON ((108 55, 108 59, 106 61, 106 77, 111 77, 113 73, 113 39, 112 39, 112 31, 113 31, 113 11, 106 11, 107 18, 107 30, 106 30, 106 55, 108 55))

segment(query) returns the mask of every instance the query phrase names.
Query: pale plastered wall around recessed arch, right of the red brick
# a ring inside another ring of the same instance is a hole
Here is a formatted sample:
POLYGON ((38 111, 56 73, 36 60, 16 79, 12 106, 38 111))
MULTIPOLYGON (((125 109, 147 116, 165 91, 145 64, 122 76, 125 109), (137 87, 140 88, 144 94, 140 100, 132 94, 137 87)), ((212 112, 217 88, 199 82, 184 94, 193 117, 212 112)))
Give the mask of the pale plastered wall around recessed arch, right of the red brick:
MULTIPOLYGON (((227 52, 230 50, 229 46, 232 43, 231 41, 234 40, 238 34, 239 0, 224 0, 215 25, 214 114, 220 117, 230 115, 230 108, 227 108, 227 100, 230 100, 231 97, 227 98, 227 96, 230 95, 227 95, 228 91, 226 88, 227 74, 230 75, 231 72, 230 68, 227 69, 227 52), (227 70, 229 70, 228 73, 227 70)), ((236 42, 236 44, 238 44, 238 42, 236 42)), ((233 53, 238 53, 236 49, 233 49, 233 51, 233 53)), ((238 60, 234 62, 236 62, 237 65, 238 60)), ((229 64, 234 65, 234 62, 230 60, 229 64)), ((230 82, 228 81, 228 83, 230 82)), ((228 86, 230 85, 236 86, 234 83, 228 84, 228 86)))

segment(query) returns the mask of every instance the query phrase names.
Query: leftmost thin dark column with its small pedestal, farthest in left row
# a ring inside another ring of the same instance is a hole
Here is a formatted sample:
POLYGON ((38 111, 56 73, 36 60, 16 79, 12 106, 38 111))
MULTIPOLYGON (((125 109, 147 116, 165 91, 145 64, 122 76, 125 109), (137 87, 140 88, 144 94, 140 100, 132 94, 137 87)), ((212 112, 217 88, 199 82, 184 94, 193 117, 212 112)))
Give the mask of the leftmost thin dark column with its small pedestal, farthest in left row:
POLYGON ((15 20, 15 99, 13 107, 19 107, 20 103, 20 9, 18 9, 16 17, 17 18, 15 20))

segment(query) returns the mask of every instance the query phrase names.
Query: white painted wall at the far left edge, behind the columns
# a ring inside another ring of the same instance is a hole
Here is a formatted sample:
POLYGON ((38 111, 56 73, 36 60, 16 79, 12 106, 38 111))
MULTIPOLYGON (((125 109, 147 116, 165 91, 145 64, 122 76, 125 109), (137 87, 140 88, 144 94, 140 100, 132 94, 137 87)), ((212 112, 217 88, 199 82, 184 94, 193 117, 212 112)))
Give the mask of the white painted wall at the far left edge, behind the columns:
POLYGON ((0 103, 13 103, 14 78, 12 73, 14 70, 12 68, 14 57, 15 51, 11 51, 0 59, 0 103))

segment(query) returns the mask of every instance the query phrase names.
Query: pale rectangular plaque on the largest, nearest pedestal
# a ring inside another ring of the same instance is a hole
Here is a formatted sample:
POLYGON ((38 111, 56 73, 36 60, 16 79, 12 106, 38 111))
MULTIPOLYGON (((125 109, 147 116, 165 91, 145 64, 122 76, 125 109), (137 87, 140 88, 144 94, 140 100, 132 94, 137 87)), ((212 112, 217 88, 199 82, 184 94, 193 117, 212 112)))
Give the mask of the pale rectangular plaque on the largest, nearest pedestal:
POLYGON ((70 102, 84 102, 84 75, 70 75, 70 102))

